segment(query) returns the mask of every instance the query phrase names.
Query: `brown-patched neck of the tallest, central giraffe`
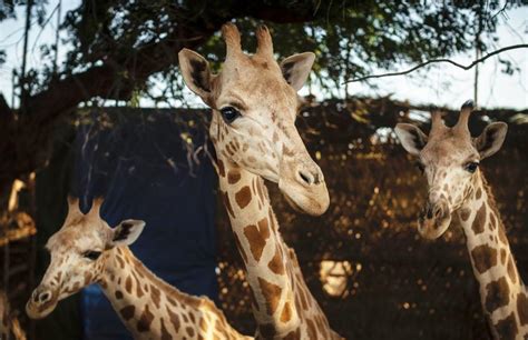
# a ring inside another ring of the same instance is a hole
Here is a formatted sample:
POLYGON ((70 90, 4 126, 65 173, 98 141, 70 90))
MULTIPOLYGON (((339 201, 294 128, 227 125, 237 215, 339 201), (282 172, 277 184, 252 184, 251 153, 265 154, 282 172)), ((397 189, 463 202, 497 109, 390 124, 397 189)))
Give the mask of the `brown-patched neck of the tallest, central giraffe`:
POLYGON ((252 291, 257 337, 339 338, 283 241, 261 177, 218 159, 219 187, 252 291))

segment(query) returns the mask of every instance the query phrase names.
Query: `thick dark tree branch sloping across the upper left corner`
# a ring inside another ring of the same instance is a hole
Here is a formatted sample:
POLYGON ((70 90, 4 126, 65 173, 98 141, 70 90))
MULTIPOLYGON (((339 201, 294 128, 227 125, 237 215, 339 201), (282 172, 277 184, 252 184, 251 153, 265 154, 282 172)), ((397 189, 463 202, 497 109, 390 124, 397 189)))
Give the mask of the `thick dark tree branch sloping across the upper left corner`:
POLYGON ((203 44, 224 22, 247 16, 281 23, 314 19, 310 11, 299 8, 255 6, 244 0, 234 3, 237 6, 233 8, 237 10, 227 16, 213 12, 190 20, 186 18, 185 22, 175 22, 173 33, 162 41, 125 52, 110 49, 97 59, 102 60, 102 64, 52 80, 47 89, 27 98, 28 114, 20 119, 13 119, 14 112, 10 110, 10 116, 4 116, 9 122, 0 123, 0 154, 7 160, 0 163, 0 191, 14 178, 46 163, 52 127, 65 113, 94 97, 129 99, 134 89, 143 86, 148 77, 177 64, 180 49, 203 44))

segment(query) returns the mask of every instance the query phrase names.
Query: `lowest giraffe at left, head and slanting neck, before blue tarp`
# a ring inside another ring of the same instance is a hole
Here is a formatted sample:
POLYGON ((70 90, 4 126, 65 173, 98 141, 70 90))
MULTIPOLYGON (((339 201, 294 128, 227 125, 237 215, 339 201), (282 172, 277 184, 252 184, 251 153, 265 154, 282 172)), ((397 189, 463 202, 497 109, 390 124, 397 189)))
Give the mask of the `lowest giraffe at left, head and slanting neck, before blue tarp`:
POLYGON ((150 272, 128 249, 145 222, 111 229, 99 217, 100 200, 84 214, 69 200, 62 228, 47 243, 51 262, 26 310, 39 319, 84 287, 99 283, 135 339, 251 339, 239 334, 206 297, 192 297, 150 272))

